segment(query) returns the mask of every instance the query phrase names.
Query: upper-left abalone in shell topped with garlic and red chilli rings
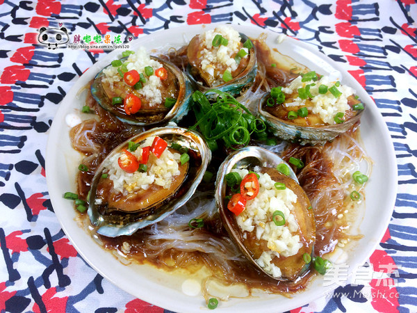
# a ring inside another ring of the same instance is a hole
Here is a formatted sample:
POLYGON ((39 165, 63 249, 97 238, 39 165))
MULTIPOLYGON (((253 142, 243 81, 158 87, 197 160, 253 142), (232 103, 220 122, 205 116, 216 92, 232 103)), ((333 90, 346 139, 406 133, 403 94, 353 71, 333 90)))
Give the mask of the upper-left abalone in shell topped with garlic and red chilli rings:
POLYGON ((144 48, 114 60, 95 77, 91 93, 100 106, 131 125, 178 122, 188 112, 190 81, 174 64, 144 48))

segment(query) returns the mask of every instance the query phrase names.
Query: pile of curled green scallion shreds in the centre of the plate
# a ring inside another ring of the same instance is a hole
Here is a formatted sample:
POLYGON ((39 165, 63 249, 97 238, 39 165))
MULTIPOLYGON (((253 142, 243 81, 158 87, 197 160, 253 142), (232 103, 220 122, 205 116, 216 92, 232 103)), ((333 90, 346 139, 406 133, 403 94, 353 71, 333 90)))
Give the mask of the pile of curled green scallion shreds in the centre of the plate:
POLYGON ((193 93, 193 111, 197 122, 190 129, 199 129, 212 151, 218 147, 217 141, 222 141, 225 147, 247 145, 254 136, 256 139, 266 139, 266 125, 256 118, 248 109, 234 97, 220 90, 214 103, 200 91, 193 93))

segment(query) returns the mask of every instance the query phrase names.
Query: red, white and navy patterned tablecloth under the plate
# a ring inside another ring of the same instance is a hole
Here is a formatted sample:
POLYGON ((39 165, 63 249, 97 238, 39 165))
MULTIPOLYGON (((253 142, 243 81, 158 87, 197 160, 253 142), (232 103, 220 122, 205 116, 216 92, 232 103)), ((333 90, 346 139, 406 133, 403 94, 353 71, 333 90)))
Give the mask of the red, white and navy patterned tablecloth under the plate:
POLYGON ((365 284, 338 287, 333 296, 291 312, 417 312, 416 0, 0 3, 1 312, 164 311, 104 280, 72 247, 49 200, 45 147, 61 100, 106 53, 66 45, 88 42, 87 35, 96 42, 117 41, 120 35, 124 42, 214 22, 284 33, 343 63, 375 100, 395 147, 398 197, 389 228, 368 262, 375 273, 384 273, 365 284), (65 27, 69 42, 48 49, 38 42, 42 27, 65 27), (364 290, 368 296, 359 292, 364 290))

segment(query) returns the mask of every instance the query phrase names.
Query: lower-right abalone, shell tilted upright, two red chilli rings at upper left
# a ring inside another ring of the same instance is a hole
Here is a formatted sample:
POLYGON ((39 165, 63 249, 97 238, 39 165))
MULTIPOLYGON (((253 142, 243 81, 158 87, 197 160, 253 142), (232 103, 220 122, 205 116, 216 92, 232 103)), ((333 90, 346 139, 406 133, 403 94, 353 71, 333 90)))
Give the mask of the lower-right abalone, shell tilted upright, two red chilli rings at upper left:
POLYGON ((245 147, 229 155, 215 197, 224 227, 257 268, 276 280, 295 280, 309 268, 316 241, 313 210, 294 172, 276 154, 245 147), (276 169, 279 164, 288 176, 276 169), (238 188, 230 183, 233 176, 238 188))

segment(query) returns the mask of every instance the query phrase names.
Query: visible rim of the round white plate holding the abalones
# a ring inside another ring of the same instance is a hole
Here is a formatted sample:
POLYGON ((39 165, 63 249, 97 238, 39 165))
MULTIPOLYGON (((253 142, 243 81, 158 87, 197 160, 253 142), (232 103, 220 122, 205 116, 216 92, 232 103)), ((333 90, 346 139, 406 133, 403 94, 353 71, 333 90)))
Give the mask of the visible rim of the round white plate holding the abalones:
MULTIPOLYGON (((207 29, 215 25, 207 26, 207 29)), ((234 26, 234 28, 246 35, 257 38, 263 31, 254 26, 234 26)), ((186 26, 177 29, 159 31, 152 35, 138 38, 131 43, 131 49, 135 50, 140 45, 150 49, 167 49, 168 47, 180 47, 185 45, 193 35, 204 31, 204 26, 186 26), (163 45, 161 47, 161 43, 163 45)), ((265 32, 265 31, 263 31, 265 32)), ((370 99, 359 83, 343 70, 343 67, 327 58, 316 50, 313 45, 305 44, 293 38, 285 38, 278 43, 277 33, 267 32, 267 44, 270 48, 277 48, 281 54, 291 56, 295 61, 306 65, 311 70, 320 74, 330 74, 335 70, 340 74, 343 83, 357 90, 357 95, 366 103, 367 110, 361 122, 361 135, 366 151, 375 161, 373 172, 366 187, 366 211, 361 220, 360 233, 363 239, 354 243, 347 259, 350 271, 354 266, 361 265, 375 250, 382 239, 386 227, 389 224, 393 211, 397 191, 397 170, 395 154, 388 129, 379 113, 377 106, 370 99), (380 182, 383 182, 381 184, 380 182)), ((172 275, 158 271, 151 266, 124 266, 111 253, 106 252, 77 225, 74 218, 76 212, 72 207, 72 201, 65 200, 65 191, 76 191, 75 177, 80 162, 80 155, 74 151, 70 144, 68 133, 70 128, 65 123, 65 117, 72 113, 79 113, 83 106, 83 99, 77 99, 76 93, 85 86, 90 79, 102 67, 115 59, 119 51, 113 51, 103 56, 95 65, 83 74, 82 77, 67 93, 60 104, 60 108, 49 132, 47 145, 47 184, 49 195, 54 206, 56 216, 60 220, 65 234, 79 251, 80 255, 97 272, 124 289, 133 296, 145 300, 154 305, 164 307, 175 312, 196 312, 208 310, 202 296, 186 296, 181 291, 183 280, 172 278, 172 275), (63 166, 63 160, 65 160, 63 166)), ((301 305, 305 305, 316 298, 320 298, 336 285, 323 287, 322 278, 317 278, 309 287, 295 294, 293 298, 277 295, 264 295, 257 298, 232 298, 227 302, 221 302, 216 312, 225 312, 233 307, 237 312, 277 312, 287 311, 301 305)))

